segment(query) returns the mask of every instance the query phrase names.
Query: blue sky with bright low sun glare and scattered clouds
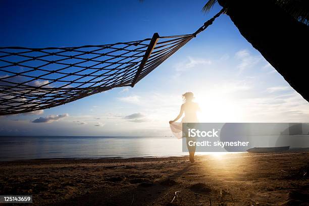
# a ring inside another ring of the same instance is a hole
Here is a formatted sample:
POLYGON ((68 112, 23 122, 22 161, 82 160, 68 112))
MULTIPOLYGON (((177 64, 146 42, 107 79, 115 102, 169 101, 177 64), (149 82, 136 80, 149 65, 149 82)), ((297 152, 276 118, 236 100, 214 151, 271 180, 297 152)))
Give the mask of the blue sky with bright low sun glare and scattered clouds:
MULTIPOLYGON (((188 34, 207 1, 1 1, 1 46, 78 46, 188 34)), ((0 135, 170 136, 181 94, 200 122, 308 122, 309 104, 227 15, 138 82, 33 113, 1 116, 0 135)))

